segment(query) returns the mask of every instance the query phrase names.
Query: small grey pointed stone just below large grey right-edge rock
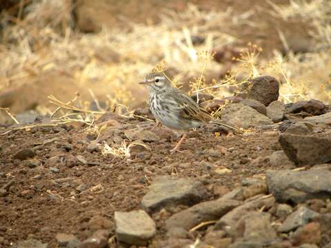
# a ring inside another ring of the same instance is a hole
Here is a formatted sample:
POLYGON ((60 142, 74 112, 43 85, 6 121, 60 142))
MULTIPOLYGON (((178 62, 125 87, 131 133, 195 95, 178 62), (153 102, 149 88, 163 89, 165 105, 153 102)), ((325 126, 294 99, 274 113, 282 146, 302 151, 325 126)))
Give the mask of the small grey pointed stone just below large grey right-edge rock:
POLYGON ((314 218, 318 218, 320 216, 319 213, 308 209, 308 207, 301 206, 296 211, 294 211, 288 218, 285 219, 283 224, 279 227, 278 231, 281 232, 289 232, 298 227, 301 227, 314 218))

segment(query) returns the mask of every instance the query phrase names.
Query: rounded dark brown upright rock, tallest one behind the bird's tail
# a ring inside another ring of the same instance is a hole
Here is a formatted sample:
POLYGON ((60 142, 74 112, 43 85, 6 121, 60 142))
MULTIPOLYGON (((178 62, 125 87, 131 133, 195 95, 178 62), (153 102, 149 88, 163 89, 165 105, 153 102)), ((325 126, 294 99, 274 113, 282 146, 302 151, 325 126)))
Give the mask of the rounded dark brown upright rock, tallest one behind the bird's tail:
POLYGON ((272 76, 259 76, 243 85, 242 91, 247 92, 243 94, 243 98, 255 99, 268 106, 272 101, 278 100, 279 82, 272 76))

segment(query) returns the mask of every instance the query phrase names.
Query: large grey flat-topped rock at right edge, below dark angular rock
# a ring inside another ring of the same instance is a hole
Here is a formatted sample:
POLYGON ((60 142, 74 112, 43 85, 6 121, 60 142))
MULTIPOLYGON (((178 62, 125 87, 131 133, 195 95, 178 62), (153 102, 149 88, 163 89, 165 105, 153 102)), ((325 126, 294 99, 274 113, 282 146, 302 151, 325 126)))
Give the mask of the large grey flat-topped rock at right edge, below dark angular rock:
POLYGON ((279 202, 303 203, 312 198, 330 198, 331 171, 312 169, 305 172, 268 171, 269 192, 279 202))

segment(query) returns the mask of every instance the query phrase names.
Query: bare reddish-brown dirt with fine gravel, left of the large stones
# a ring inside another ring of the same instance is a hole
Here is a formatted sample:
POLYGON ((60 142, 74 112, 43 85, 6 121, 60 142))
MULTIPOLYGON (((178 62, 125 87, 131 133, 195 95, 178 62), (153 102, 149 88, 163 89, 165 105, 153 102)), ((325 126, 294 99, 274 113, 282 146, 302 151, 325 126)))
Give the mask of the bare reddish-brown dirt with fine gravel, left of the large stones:
MULTIPOLYGON (((132 127, 150 130, 153 124, 132 120, 115 128, 124 138, 123 131, 132 127)), ((139 152, 130 159, 114 158, 102 156, 100 151, 88 152, 95 136, 85 128, 36 127, 0 136, 0 183, 13 180, 10 193, 0 198, 0 235, 6 232, 2 247, 28 237, 57 247, 54 236, 61 232, 83 240, 95 231, 95 225, 104 225, 91 223, 94 216, 103 216, 112 228, 114 211, 138 209, 157 175, 199 178, 209 189, 206 199, 217 198, 240 185, 243 178, 271 169, 268 163, 254 159, 280 149, 277 135, 270 130, 214 136, 214 127, 201 127, 183 143, 182 153, 170 154, 176 140, 170 142, 169 133, 161 128, 154 132, 164 138, 148 144, 151 152, 139 152), (13 154, 21 149, 34 151, 34 158, 14 159, 13 154), (79 155, 87 164, 77 161, 79 155), (217 174, 215 167, 226 167, 232 173, 217 174)))

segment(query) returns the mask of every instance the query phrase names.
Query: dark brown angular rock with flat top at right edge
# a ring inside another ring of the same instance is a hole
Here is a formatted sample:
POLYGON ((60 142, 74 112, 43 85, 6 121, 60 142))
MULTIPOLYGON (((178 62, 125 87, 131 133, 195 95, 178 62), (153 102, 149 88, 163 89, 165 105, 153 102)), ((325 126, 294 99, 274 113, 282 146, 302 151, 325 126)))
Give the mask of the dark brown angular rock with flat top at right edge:
POLYGON ((331 137, 281 134, 279 143, 297 165, 317 165, 331 161, 331 137))

